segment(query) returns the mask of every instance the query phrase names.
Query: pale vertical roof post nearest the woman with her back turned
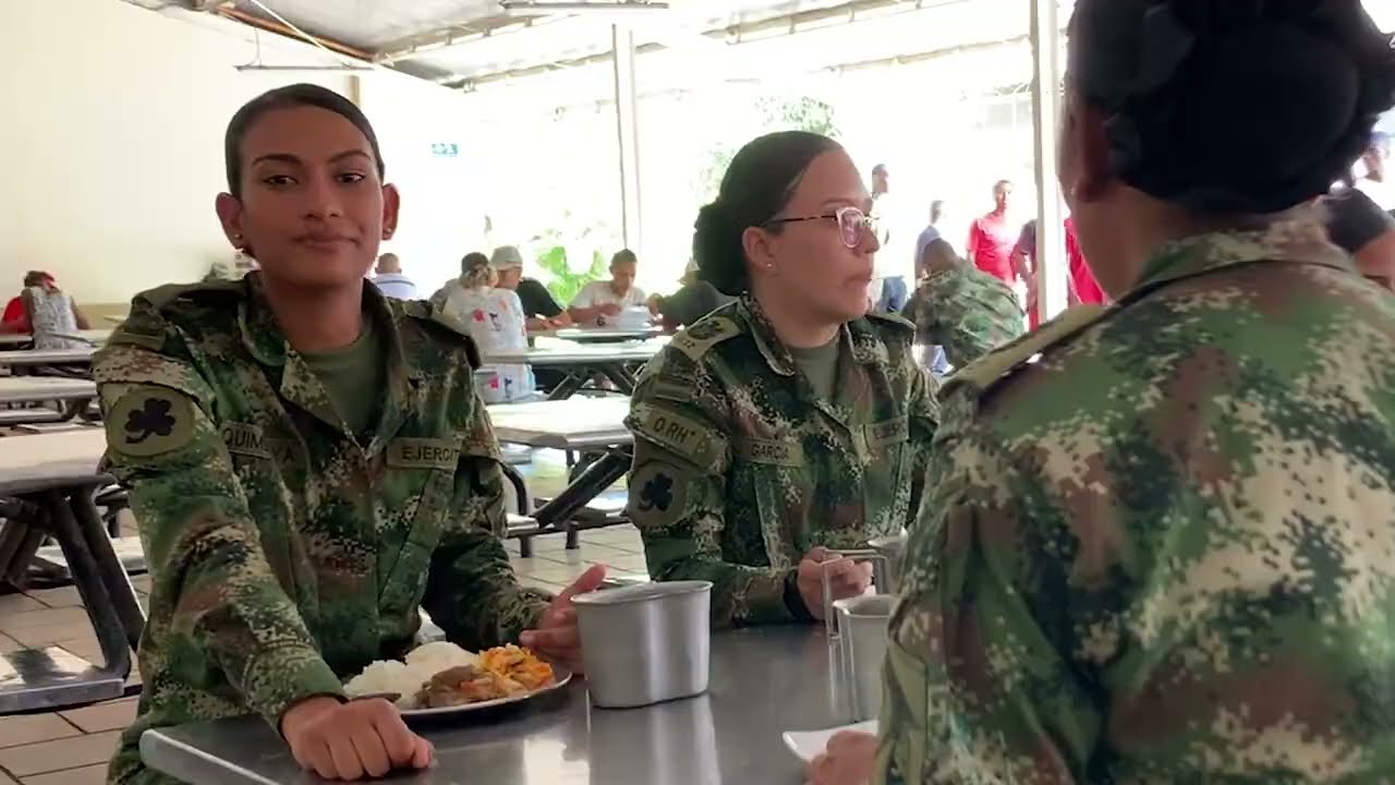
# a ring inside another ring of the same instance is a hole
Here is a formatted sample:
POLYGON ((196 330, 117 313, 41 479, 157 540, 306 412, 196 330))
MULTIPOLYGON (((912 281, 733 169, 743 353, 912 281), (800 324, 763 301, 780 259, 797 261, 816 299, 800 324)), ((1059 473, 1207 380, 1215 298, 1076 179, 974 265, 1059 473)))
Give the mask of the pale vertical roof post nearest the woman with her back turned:
POLYGON ((1036 307, 1042 321, 1066 310, 1064 210, 1056 172, 1060 129, 1060 24, 1056 0, 1031 0, 1032 147, 1036 154, 1036 307))

